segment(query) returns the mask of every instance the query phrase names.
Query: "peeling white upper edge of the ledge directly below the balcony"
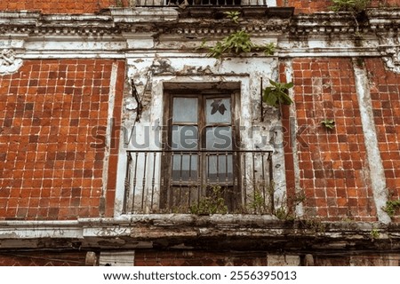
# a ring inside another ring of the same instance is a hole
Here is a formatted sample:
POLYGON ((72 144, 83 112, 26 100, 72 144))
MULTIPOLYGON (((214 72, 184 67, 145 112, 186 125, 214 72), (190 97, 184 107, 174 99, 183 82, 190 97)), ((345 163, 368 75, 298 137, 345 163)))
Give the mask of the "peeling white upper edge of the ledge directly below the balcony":
MULTIPOLYGON (((268 235, 270 230, 299 230, 302 221, 282 221, 270 215, 210 215, 197 216, 191 214, 143 214, 123 215, 120 217, 93 217, 78 218, 77 220, 57 221, 0 221, 0 239, 31 239, 31 238, 84 238, 85 230, 108 232, 101 233, 102 236, 119 236, 130 233, 131 229, 137 227, 198 227, 198 228, 224 228, 232 229, 233 234, 240 228, 265 230, 268 235), (128 231, 124 231, 128 229, 128 231), (124 233, 125 232, 125 233, 124 233)), ((304 221, 307 223, 307 221, 304 221)), ((400 225, 384 225, 380 222, 326 222, 326 234, 332 236, 346 235, 348 233, 370 233, 372 230, 390 231, 400 236, 400 225)), ((95 233, 96 234, 96 233, 95 233)))

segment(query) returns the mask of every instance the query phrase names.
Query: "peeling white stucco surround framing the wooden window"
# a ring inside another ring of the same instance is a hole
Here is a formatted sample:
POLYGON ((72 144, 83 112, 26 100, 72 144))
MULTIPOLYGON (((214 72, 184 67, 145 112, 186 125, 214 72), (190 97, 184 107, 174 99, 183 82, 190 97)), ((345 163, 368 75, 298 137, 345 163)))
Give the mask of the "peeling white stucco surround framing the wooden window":
MULTIPOLYGON (((229 59, 211 59, 194 57, 193 54, 181 54, 180 57, 168 57, 158 55, 154 58, 127 59, 128 78, 132 79, 136 90, 143 103, 140 121, 137 119, 137 104, 131 93, 124 96, 124 110, 118 162, 118 177, 116 189, 115 214, 123 213, 124 204, 124 173, 126 171, 126 151, 135 150, 144 145, 145 150, 161 150, 160 133, 164 122, 164 87, 166 83, 174 83, 185 86, 188 83, 198 83, 201 88, 204 83, 238 83, 240 85, 236 119, 240 126, 240 142, 243 150, 273 150, 273 177, 276 191, 276 201, 284 201, 284 154, 280 149, 281 144, 274 147, 269 143, 276 137, 279 128, 279 115, 276 109, 264 106, 264 121, 261 122, 260 89, 261 80, 263 86, 268 85, 268 79, 277 80, 278 60, 273 57, 243 57, 229 59), (136 129, 134 143, 132 143, 132 129, 136 129), (274 130, 271 137, 270 130, 274 130), (124 133, 125 132, 125 133, 124 133), (283 190, 282 190, 283 189, 283 190)), ((282 133, 278 133, 278 136, 282 133)), ((156 162, 160 167, 160 162, 156 162)), ((159 179, 160 170, 157 169, 156 180, 159 179)), ((159 184, 156 185, 156 187, 159 184)), ((159 187, 156 188, 155 201, 159 199, 159 187)))

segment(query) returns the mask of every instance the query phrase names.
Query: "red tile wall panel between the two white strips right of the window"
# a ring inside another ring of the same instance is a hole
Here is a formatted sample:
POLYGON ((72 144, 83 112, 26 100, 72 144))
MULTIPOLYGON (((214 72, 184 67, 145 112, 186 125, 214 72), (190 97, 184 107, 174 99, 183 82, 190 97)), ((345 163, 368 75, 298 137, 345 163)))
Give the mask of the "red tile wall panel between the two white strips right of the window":
POLYGON ((350 59, 294 59, 300 187, 306 214, 338 220, 376 220, 364 134, 350 59), (321 121, 334 119, 327 130, 321 121), (299 139, 298 139, 299 140, 299 139))

